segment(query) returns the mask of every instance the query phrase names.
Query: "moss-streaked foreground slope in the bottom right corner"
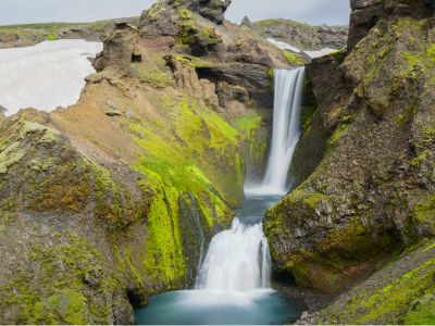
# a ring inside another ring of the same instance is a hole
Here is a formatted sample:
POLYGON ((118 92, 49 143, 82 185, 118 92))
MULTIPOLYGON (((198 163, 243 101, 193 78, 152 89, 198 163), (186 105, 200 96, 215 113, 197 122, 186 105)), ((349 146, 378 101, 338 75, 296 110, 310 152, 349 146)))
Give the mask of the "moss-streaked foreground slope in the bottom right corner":
POLYGON ((315 324, 431 325, 434 243, 426 241, 313 316, 315 324))

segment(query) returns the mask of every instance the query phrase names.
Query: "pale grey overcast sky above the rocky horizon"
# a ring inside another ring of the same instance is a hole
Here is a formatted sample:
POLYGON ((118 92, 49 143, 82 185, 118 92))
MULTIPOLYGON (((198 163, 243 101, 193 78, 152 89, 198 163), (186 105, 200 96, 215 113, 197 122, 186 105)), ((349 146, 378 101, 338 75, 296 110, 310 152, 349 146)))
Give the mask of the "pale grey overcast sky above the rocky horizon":
MULTIPOLYGON (((91 22, 137 16, 153 0, 0 0, 0 25, 91 22)), ((226 17, 239 23, 289 18, 310 24, 348 24, 349 0, 233 0, 226 17)))

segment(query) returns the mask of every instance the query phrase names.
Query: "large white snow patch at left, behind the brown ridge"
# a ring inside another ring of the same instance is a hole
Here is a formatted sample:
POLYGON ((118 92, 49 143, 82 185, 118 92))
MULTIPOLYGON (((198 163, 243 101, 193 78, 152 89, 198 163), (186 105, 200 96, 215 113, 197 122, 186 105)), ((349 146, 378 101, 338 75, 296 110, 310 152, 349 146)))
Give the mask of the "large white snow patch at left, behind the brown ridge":
POLYGON ((88 58, 101 42, 45 41, 34 47, 0 49, 0 105, 12 115, 20 109, 50 112, 78 101, 85 77, 95 73, 88 58))

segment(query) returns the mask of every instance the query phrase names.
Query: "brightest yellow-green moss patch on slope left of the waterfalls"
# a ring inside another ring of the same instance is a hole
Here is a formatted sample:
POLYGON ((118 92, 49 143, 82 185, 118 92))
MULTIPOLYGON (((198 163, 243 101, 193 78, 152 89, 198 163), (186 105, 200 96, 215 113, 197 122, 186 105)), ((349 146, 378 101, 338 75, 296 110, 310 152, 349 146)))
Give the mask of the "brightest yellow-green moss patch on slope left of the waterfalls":
MULTIPOLYGON (((186 284, 188 268, 179 202, 189 202, 186 193, 191 193, 210 230, 228 224, 233 215, 227 203, 236 203, 243 195, 238 192, 244 179, 239 131, 194 98, 161 93, 154 100, 158 116, 129 126, 140 148, 133 168, 153 192, 140 261, 150 284, 177 288, 186 284)), ((251 120, 240 125, 249 128, 251 120)))

